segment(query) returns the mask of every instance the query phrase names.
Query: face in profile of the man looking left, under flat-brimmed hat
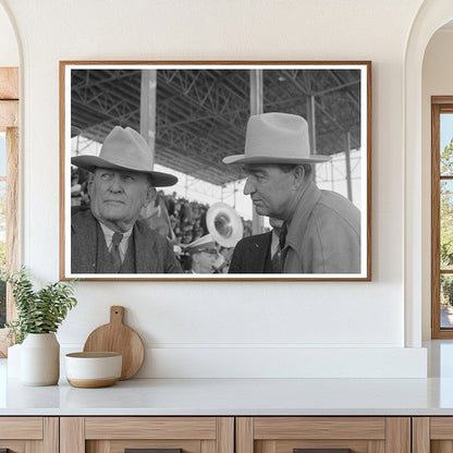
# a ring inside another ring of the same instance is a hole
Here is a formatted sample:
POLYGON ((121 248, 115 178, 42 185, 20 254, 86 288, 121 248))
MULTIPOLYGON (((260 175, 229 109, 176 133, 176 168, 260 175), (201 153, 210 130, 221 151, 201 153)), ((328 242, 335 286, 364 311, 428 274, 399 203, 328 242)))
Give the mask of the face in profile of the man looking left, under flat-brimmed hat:
POLYGON ((285 219, 294 197, 294 174, 271 164, 244 166, 247 181, 244 194, 249 195, 261 216, 285 219))

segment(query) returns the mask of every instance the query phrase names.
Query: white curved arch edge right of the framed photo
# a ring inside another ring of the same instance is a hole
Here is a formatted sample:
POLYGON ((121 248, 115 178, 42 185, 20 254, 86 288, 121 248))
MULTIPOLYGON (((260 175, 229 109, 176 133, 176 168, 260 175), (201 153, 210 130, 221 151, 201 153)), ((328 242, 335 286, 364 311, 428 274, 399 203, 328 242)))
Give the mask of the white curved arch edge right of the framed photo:
POLYGON ((427 134, 430 131, 430 115, 426 111, 427 100, 423 90, 424 58, 432 36, 452 19, 453 3, 450 0, 425 2, 415 17, 405 53, 404 290, 405 344, 408 347, 418 347, 421 340, 428 340, 430 336, 428 336, 430 322, 429 138, 428 146, 426 145, 427 134))

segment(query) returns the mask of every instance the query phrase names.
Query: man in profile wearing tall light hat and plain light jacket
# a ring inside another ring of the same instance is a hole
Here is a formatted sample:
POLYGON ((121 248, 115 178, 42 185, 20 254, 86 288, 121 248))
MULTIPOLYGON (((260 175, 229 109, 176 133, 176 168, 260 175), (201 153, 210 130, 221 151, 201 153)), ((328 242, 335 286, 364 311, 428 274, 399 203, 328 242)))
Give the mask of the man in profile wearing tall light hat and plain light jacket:
POLYGON ((223 159, 243 166, 256 211, 284 221, 282 272, 360 272, 359 210, 313 181, 313 164, 327 160, 310 154, 307 122, 289 113, 252 117, 245 152, 223 159))

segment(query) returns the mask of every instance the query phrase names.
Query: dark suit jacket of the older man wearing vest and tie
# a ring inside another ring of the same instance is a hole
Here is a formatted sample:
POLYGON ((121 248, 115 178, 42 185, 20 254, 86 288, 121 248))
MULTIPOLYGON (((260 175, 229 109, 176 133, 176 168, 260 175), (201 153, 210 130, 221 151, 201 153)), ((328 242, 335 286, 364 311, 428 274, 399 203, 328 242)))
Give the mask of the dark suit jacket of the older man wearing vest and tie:
MULTIPOLYGON (((71 219, 71 270, 73 273, 96 273, 98 221, 89 209, 77 210, 71 219)), ((180 273, 181 265, 171 244, 137 221, 133 235, 136 273, 180 273)))

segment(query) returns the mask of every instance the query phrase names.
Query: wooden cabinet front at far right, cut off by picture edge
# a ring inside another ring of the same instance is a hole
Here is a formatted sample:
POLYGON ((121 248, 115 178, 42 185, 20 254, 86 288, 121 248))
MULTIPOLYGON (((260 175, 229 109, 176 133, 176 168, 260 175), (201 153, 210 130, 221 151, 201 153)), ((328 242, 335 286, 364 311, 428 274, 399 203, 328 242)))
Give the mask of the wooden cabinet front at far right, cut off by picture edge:
POLYGON ((453 417, 414 417, 414 453, 452 453, 453 417))

